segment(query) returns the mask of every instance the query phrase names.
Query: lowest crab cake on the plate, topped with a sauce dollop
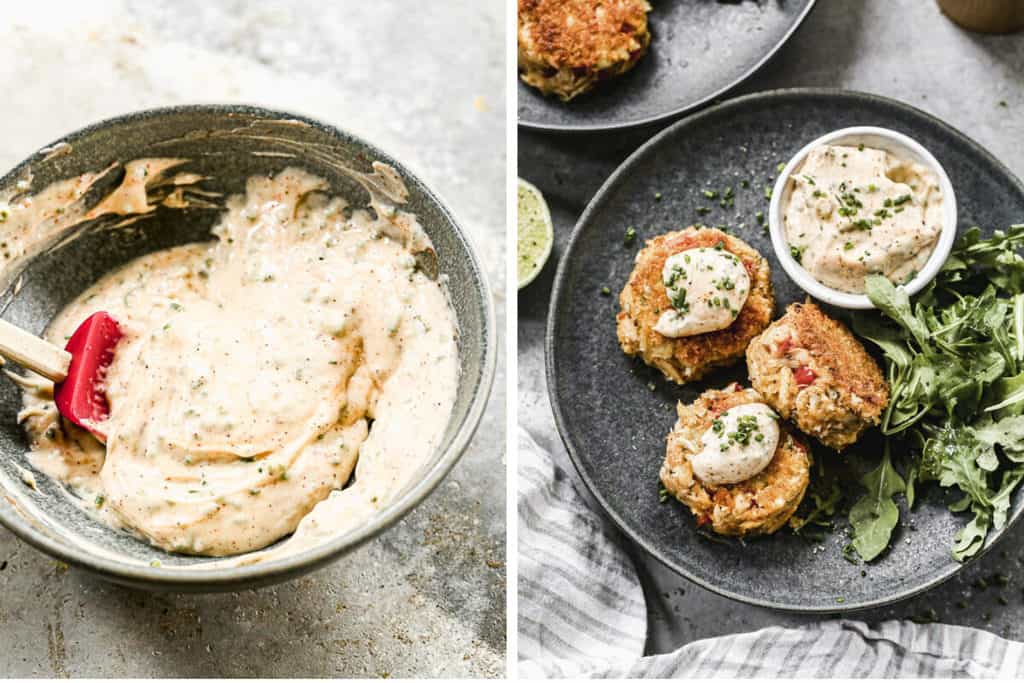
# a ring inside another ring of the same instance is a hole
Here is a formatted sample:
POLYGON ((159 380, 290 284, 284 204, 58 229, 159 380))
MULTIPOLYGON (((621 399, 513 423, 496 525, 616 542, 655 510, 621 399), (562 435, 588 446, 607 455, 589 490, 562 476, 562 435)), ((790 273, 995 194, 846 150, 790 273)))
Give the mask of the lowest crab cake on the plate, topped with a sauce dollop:
POLYGON ((662 482, 697 525, 753 536, 785 524, 810 482, 811 452, 761 395, 732 384, 676 411, 662 482))

